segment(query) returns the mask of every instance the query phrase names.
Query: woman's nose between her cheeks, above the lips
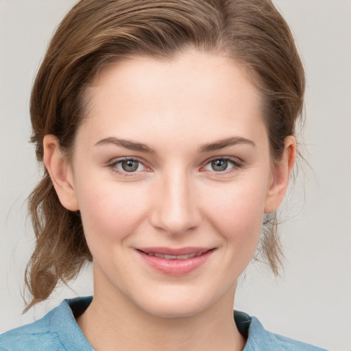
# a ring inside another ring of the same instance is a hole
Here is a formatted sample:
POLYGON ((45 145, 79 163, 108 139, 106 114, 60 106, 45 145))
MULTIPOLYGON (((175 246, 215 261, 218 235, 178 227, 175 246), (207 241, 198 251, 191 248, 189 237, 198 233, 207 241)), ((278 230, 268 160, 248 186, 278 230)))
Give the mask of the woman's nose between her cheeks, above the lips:
POLYGON ((199 226, 201 213, 190 178, 180 171, 160 177, 150 216, 154 228, 180 235, 199 226))

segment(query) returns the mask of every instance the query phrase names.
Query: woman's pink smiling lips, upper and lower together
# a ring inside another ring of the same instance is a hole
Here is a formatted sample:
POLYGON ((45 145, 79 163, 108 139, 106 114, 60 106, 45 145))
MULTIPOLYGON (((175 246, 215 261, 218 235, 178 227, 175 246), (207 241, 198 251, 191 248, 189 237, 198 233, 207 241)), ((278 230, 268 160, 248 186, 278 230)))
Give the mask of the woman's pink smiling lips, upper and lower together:
POLYGON ((136 253, 143 258, 143 261, 156 271, 169 276, 183 276, 206 263, 208 258, 215 251, 215 247, 137 247, 136 253), (184 256, 193 255, 191 258, 162 258, 158 255, 184 256))

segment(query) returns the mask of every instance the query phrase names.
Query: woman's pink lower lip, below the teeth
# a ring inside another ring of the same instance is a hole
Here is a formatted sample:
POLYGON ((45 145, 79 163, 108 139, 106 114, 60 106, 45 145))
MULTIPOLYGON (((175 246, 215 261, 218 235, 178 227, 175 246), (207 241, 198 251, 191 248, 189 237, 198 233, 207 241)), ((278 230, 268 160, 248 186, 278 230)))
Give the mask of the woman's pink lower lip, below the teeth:
POLYGON ((186 260, 167 260, 166 258, 150 256, 145 254, 145 252, 136 250, 150 267, 163 274, 168 274, 169 276, 184 276, 184 274, 195 271, 195 269, 204 265, 214 251, 215 250, 209 250, 200 256, 187 258, 186 260))

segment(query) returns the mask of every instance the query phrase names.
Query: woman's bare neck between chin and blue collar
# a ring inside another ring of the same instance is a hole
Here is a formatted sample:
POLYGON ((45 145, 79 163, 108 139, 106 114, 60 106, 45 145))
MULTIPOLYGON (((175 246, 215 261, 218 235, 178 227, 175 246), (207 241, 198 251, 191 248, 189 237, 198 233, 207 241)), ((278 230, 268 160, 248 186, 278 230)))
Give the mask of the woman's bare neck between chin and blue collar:
POLYGON ((77 319, 95 351, 240 351, 245 346, 234 323, 234 291, 204 311, 175 318, 152 315, 121 293, 106 291, 95 289, 93 301, 77 319))

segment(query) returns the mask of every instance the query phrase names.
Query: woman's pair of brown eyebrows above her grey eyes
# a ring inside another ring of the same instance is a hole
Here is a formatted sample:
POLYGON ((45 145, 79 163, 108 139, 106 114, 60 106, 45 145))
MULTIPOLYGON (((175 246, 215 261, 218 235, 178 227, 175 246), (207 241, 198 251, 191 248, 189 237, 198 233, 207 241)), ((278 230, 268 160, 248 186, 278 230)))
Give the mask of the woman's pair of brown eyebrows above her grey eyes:
MULTIPOLYGON (((101 141, 98 141, 95 144, 95 146, 106 145, 106 144, 114 144, 117 146, 124 147, 125 149, 130 149, 130 150, 139 151, 139 152, 147 152, 148 154, 156 153, 154 149, 152 149, 151 147, 148 147, 146 144, 136 143, 135 141, 114 138, 114 137, 101 139, 101 141)), ((204 152, 217 151, 220 149, 224 149, 225 147, 229 147, 237 144, 247 144, 247 145, 252 145, 256 147, 256 144, 250 139, 243 138, 241 136, 230 136, 229 138, 224 138, 219 141, 215 141, 213 143, 206 143, 202 145, 201 147, 199 147, 199 152, 204 153, 204 152)))

